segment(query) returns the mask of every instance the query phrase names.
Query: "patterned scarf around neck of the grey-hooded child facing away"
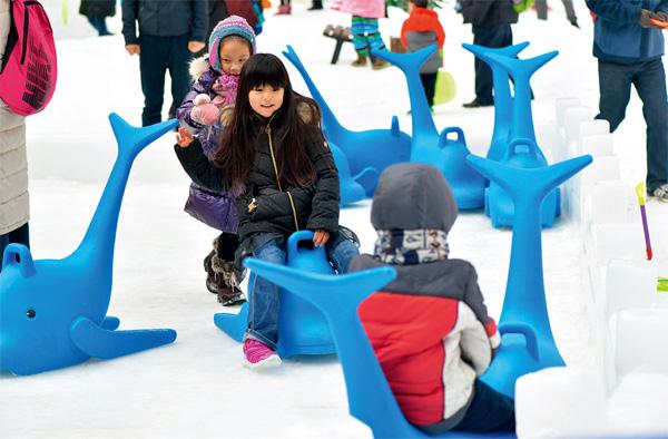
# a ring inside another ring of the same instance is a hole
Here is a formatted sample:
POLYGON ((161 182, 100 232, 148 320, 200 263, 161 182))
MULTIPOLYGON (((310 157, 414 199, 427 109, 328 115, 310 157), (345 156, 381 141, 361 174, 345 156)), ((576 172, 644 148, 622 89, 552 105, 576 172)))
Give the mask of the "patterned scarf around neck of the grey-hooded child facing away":
POLYGON ((448 233, 438 230, 377 231, 373 257, 393 265, 446 260, 448 233))

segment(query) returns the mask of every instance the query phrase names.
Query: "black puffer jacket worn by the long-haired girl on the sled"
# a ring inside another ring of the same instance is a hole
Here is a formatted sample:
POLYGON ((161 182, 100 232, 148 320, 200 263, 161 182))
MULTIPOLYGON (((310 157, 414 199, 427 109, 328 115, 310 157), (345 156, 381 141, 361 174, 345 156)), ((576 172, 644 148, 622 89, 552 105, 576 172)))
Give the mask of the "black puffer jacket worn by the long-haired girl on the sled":
MULTIPOLYGON (((308 187, 296 187, 287 182, 281 182, 278 187, 269 138, 276 153, 281 148, 281 115, 276 115, 269 123, 259 117, 254 118, 257 137, 249 147, 256 152, 255 165, 246 182, 245 192, 236 199, 242 245, 258 233, 287 237, 297 228, 323 230, 333 236, 336 235, 340 201, 338 172, 322 131, 314 127, 303 142, 315 167, 317 181, 308 187)), ((225 187, 222 169, 206 158, 198 140, 193 142, 187 148, 176 145, 175 150, 181 166, 195 184, 214 192, 229 189, 225 187)))

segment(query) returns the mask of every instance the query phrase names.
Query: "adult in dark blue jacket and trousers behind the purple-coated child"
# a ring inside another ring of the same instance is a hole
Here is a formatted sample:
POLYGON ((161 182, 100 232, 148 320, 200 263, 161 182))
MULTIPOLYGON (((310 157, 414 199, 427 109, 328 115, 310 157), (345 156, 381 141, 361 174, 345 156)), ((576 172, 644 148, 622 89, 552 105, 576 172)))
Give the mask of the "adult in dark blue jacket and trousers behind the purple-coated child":
POLYGON ((169 118, 175 117, 176 108, 190 87, 188 64, 193 55, 205 47, 207 12, 207 0, 122 1, 126 50, 130 56, 139 56, 143 126, 161 120, 167 70, 171 78, 169 118))

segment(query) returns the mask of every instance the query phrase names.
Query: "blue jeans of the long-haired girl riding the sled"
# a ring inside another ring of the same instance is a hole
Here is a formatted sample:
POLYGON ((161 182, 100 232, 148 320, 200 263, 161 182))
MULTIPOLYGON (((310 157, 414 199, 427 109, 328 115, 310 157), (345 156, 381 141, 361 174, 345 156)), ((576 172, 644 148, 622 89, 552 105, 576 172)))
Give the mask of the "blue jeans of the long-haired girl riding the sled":
MULTIPOLYGON (((351 260, 360 254, 357 246, 348 240, 343 240, 334 248, 325 245, 327 258, 340 274, 346 273, 351 260)), ((255 250, 254 257, 261 261, 285 265, 287 253, 285 245, 278 245, 275 240, 255 250)), ((276 350, 278 342, 278 314, 281 303, 278 286, 253 274, 254 285, 248 292, 248 329, 246 338, 255 339, 276 350)))

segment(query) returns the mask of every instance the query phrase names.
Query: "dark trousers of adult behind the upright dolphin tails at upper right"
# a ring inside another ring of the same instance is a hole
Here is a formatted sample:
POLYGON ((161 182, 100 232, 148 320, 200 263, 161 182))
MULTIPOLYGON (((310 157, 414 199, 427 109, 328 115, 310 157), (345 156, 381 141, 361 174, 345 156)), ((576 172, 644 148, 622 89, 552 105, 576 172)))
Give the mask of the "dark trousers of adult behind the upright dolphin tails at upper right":
MULTIPOLYGON (((512 45, 510 25, 473 26, 473 43, 490 48, 512 45)), ((487 62, 475 58, 475 98, 483 103, 493 100, 492 69, 487 62)))

